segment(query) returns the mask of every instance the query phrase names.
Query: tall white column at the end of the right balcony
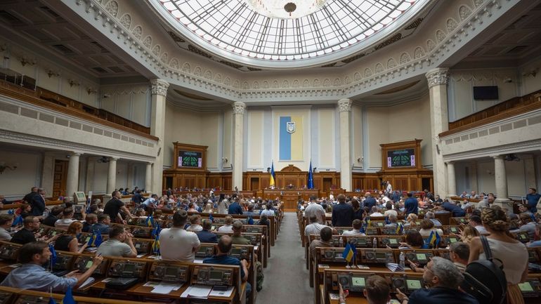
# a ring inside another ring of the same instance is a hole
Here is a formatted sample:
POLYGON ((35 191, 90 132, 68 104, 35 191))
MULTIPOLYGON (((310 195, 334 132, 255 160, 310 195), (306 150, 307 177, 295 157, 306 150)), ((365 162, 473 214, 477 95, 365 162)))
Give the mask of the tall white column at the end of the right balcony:
MULTIPOLYGON (((440 149, 439 134, 448 131, 449 118, 447 110, 447 81, 448 69, 436 68, 426 73, 430 94, 430 125, 432 147, 432 171, 434 172, 434 194, 445 197, 447 193, 447 176, 445 162, 440 149)), ((455 190, 456 191, 456 190, 455 190)))

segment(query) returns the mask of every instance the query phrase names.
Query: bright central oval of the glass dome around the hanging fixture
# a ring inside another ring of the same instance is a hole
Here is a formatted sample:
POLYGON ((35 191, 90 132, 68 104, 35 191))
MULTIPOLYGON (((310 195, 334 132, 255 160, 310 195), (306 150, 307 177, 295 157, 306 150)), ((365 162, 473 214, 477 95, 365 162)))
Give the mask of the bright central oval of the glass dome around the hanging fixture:
POLYGON ((327 0, 245 0, 245 2, 261 15, 296 19, 319 11, 327 0))

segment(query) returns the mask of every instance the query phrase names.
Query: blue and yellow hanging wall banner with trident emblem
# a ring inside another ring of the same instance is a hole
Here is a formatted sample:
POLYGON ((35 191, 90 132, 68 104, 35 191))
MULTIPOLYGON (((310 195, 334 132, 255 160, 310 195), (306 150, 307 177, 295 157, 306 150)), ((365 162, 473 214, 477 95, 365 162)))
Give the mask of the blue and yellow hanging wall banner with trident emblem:
POLYGON ((303 128, 301 116, 280 117, 280 160, 303 160, 303 128))

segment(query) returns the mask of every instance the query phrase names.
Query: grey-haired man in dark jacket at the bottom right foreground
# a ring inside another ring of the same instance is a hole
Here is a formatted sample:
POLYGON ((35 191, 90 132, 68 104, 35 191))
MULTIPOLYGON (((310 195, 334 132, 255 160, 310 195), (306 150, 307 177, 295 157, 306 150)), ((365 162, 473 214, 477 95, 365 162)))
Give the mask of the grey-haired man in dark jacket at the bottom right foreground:
POLYGON ((396 289, 400 303, 408 304, 479 304, 478 300, 458 289, 464 277, 450 260, 438 256, 426 264, 423 273, 428 289, 417 289, 410 298, 396 289))

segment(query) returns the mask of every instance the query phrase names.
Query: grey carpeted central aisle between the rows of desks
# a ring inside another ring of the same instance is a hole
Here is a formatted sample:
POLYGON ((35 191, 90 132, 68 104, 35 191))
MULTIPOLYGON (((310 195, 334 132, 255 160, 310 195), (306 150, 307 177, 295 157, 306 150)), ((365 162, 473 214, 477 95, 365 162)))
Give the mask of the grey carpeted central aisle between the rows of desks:
POLYGON ((257 304, 313 304, 313 289, 308 283, 310 275, 305 267, 296 213, 285 213, 263 274, 265 282, 257 293, 257 304))

